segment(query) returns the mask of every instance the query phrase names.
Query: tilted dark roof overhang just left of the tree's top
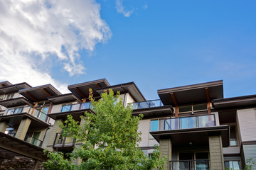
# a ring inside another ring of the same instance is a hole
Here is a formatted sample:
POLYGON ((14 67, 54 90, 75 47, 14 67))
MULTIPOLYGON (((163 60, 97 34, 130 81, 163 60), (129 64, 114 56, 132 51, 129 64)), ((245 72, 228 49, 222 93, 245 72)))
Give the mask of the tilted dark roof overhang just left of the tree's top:
POLYGON ((73 84, 68 86, 68 89, 78 96, 79 98, 88 98, 89 97, 89 89, 92 89, 93 96, 99 96, 95 89, 105 88, 110 86, 106 79, 99 79, 95 81, 87 81, 81 84, 73 84))

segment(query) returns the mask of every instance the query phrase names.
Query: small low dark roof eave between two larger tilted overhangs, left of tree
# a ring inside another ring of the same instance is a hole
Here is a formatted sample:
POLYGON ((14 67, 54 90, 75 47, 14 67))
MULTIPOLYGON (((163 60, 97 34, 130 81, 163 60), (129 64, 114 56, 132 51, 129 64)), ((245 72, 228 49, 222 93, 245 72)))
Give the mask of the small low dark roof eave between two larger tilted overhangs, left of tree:
POLYGON ((68 103, 73 101, 78 101, 82 103, 81 99, 78 98, 75 94, 62 94, 60 96, 53 96, 48 98, 49 101, 58 104, 58 103, 68 103))

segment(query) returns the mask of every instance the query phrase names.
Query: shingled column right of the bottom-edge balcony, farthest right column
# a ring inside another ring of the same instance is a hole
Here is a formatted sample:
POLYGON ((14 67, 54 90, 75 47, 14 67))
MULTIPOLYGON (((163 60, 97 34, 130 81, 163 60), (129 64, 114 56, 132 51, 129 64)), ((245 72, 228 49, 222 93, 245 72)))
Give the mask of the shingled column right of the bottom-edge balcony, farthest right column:
POLYGON ((209 136, 209 150, 210 150, 210 170, 225 169, 221 135, 209 136))

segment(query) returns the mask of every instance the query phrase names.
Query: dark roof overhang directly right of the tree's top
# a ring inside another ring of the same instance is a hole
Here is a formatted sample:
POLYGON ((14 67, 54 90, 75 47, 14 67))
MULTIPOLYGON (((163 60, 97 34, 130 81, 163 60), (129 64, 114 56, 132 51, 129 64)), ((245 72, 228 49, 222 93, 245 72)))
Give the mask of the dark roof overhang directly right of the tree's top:
POLYGON ((96 91, 99 94, 102 94, 105 90, 108 90, 108 89, 112 89, 114 93, 117 93, 117 91, 120 91, 120 94, 129 93, 129 95, 132 96, 135 102, 146 101, 146 99, 142 95, 142 92, 139 91, 138 87, 136 86, 136 84, 134 84, 134 82, 108 86, 106 88, 96 89, 96 91))

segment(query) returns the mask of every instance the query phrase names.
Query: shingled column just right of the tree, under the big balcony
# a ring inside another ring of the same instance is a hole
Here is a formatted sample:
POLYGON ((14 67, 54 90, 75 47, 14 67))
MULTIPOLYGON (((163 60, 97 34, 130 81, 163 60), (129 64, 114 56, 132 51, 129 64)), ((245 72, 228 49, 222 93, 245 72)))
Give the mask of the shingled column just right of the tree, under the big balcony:
POLYGON ((161 151, 161 157, 166 156, 167 160, 166 160, 166 164, 164 165, 164 169, 170 169, 169 165, 170 165, 170 161, 171 161, 171 139, 161 139, 159 141, 159 149, 161 151))

